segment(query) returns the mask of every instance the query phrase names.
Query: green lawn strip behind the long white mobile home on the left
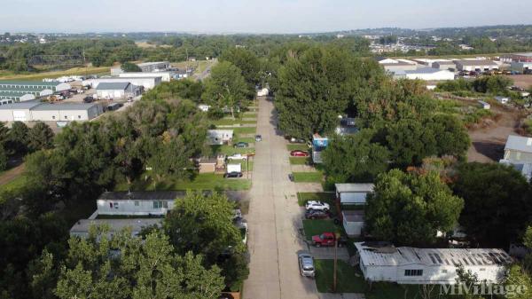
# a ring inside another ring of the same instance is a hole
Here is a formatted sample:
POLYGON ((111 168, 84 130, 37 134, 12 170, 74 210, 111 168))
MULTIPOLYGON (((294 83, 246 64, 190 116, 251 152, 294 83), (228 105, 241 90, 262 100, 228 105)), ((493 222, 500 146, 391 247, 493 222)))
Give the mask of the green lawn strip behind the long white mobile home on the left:
POLYGON ((221 174, 201 173, 192 177, 191 180, 167 179, 157 185, 153 180, 139 180, 133 182, 130 186, 127 183, 116 185, 114 191, 166 191, 166 190, 247 190, 251 188, 251 180, 223 178, 221 174))

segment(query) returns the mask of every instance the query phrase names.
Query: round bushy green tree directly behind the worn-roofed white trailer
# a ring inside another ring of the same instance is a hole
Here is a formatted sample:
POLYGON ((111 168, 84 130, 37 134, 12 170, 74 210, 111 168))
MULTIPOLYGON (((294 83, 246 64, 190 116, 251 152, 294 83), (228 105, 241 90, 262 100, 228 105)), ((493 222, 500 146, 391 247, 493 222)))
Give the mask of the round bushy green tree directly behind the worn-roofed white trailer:
POLYGON ((379 240, 407 246, 434 244, 437 232, 458 224, 464 201, 435 172, 426 175, 393 169, 375 181, 367 199, 367 232, 379 240))

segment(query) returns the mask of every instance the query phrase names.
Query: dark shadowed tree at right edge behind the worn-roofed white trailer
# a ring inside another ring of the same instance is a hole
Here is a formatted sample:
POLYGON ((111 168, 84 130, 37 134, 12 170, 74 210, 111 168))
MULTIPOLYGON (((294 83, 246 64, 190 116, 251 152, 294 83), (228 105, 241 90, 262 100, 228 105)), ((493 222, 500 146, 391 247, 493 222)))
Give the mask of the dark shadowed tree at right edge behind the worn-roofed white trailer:
POLYGON ((465 163, 452 187, 465 201, 460 224, 473 244, 507 247, 524 233, 532 204, 530 185, 519 171, 499 163, 465 163))

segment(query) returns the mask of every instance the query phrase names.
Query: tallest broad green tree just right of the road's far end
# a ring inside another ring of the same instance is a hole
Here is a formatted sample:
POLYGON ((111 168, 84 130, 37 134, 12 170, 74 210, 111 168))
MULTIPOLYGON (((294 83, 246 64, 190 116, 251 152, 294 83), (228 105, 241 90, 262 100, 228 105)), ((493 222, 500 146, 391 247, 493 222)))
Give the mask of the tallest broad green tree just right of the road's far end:
POLYGON ((335 47, 311 48, 288 59, 278 71, 279 130, 298 138, 332 132, 353 98, 358 63, 335 47))

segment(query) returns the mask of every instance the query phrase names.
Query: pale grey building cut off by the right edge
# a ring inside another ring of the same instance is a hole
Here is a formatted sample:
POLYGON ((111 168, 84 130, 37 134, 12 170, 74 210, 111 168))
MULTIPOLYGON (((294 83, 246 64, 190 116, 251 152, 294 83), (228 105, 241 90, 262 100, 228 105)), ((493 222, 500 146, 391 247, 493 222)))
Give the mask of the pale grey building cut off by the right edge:
POLYGON ((511 165, 523 177, 532 179, 532 138, 510 135, 506 140, 505 156, 500 163, 511 165))

